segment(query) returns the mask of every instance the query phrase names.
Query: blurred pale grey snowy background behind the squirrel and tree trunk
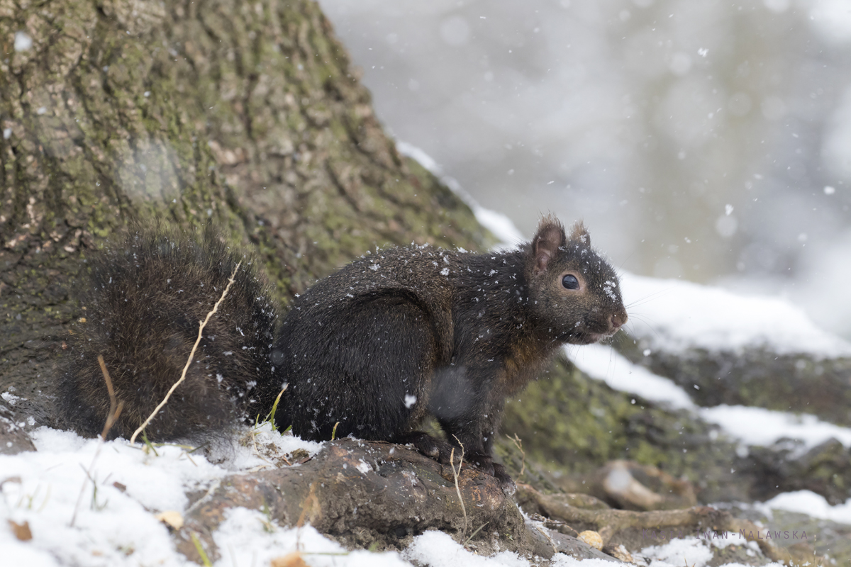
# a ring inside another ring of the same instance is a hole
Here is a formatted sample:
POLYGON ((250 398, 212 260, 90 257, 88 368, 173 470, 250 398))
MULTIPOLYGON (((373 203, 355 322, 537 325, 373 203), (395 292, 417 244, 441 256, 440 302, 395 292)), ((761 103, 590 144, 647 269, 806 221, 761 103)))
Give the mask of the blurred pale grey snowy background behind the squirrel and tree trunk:
POLYGON ((527 236, 851 338, 851 1, 320 0, 386 128, 527 236))

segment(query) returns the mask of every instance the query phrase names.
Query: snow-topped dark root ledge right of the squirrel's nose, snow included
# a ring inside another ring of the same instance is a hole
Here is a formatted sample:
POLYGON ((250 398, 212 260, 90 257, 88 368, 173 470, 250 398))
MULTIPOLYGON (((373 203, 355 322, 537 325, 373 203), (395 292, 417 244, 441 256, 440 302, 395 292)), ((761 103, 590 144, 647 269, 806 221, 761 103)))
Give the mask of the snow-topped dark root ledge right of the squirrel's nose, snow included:
POLYGON ((633 363, 701 406, 752 405, 851 426, 851 343, 780 298, 624 275, 633 363))

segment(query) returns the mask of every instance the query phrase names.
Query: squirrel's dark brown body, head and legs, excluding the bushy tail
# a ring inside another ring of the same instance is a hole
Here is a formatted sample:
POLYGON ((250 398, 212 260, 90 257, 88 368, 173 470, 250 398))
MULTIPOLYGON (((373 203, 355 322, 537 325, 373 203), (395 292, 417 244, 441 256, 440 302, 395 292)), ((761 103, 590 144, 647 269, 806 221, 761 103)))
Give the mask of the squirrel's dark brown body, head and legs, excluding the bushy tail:
POLYGON ((625 320, 617 275, 581 225, 568 240, 545 218, 533 242, 504 253, 388 249, 317 282, 284 318, 278 424, 328 439, 339 422, 338 436, 413 442, 442 462, 460 443, 510 483, 491 460, 505 397, 564 343, 597 342, 625 320), (565 271, 584 293, 563 292, 565 271), (448 444, 417 431, 429 414, 448 444))

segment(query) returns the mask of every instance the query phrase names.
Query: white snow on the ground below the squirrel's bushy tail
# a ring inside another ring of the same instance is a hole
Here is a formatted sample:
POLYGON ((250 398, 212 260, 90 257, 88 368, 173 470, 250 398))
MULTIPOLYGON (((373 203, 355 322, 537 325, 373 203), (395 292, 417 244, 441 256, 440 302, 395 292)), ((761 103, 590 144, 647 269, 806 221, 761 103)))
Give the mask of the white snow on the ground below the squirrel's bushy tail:
MULTIPOLYGON (((258 437, 283 453, 321 447, 273 434, 268 425, 258 437)), ((32 441, 37 451, 0 455, 0 518, 26 522, 32 532, 31 541, 19 541, 7 522, 0 524, 3 564, 185 565, 155 514, 184 513, 187 490, 204 489, 233 470, 269 466, 244 447, 229 451, 231 460, 221 466, 175 445, 154 455, 118 439, 99 451, 97 440, 50 428, 38 428, 32 441)))

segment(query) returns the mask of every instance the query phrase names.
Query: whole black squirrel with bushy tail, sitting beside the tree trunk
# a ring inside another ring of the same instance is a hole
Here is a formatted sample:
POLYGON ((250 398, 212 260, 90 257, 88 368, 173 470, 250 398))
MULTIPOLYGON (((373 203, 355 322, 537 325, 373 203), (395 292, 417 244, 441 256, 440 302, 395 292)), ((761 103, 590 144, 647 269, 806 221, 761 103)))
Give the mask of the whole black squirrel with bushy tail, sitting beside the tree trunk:
POLYGON ((359 258, 297 297, 277 321, 254 262, 202 235, 140 231, 91 261, 85 322, 60 380, 60 413, 100 433, 110 400, 106 367, 125 410, 111 436, 129 437, 180 377, 198 321, 235 283, 204 330, 186 383, 146 428, 151 439, 208 435, 239 417, 275 419, 304 439, 353 435, 411 443, 513 481, 491 451, 505 398, 534 379, 565 343, 596 343, 627 315, 614 269, 546 217, 515 250, 473 254, 389 248, 359 258), (427 416, 447 439, 418 430, 427 416))

